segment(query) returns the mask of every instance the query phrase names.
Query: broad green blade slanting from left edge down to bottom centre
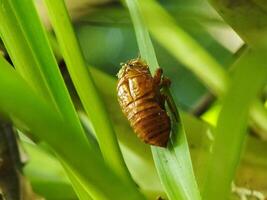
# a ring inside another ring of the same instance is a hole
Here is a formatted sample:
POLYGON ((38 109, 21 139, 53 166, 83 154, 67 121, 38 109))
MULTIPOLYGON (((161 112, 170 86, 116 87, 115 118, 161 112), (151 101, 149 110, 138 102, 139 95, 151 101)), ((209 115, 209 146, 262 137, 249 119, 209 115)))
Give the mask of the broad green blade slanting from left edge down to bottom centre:
POLYGON ((89 148, 86 140, 73 134, 73 127, 36 95, 2 57, 0 71, 0 113, 12 119, 18 128, 31 132, 37 139, 49 144, 94 198, 144 199, 136 187, 123 181, 105 164, 96 149, 89 148))

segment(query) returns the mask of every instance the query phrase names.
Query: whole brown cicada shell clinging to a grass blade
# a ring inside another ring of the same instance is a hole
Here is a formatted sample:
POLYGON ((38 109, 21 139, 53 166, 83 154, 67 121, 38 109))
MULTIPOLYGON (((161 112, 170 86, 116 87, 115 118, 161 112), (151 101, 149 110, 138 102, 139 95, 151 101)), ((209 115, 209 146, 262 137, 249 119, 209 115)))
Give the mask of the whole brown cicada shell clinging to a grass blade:
POLYGON ((166 147, 170 118, 160 89, 170 84, 158 68, 154 77, 140 58, 129 60, 118 73, 118 100, 137 136, 150 145, 166 147))

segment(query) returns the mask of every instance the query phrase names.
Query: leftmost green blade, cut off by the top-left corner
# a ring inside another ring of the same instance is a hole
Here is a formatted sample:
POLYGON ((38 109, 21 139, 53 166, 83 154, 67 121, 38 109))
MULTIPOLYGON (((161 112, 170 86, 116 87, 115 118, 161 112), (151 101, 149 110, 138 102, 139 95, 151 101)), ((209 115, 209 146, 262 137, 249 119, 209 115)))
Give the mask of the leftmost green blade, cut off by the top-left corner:
POLYGON ((0 36, 16 70, 36 92, 49 98, 49 90, 37 67, 37 60, 32 55, 10 3, 1 0, 0 5, 0 36))

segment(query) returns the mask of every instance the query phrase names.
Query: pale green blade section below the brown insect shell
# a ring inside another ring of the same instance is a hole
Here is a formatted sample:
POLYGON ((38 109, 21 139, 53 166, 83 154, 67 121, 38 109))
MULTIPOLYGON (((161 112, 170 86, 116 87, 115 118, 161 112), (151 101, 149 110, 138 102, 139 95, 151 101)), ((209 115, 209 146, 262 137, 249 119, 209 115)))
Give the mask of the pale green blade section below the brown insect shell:
POLYGON ((190 154, 183 127, 180 124, 173 130, 177 132, 170 138, 167 149, 152 147, 161 182, 170 199, 201 199, 194 176, 190 173, 193 167, 188 160, 190 154))

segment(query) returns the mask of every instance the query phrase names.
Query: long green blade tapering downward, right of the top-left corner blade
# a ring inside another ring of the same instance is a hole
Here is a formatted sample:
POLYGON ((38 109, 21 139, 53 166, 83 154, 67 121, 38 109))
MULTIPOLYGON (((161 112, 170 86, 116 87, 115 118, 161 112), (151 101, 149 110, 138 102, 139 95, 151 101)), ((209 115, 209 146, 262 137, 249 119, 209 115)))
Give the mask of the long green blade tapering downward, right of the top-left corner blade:
MULTIPOLYGON (((58 68, 55 56, 53 55, 47 34, 34 7, 34 2, 32 0, 12 0, 9 1, 9 5, 14 11, 16 22, 19 25, 17 29, 21 31, 23 39, 21 39, 18 43, 10 42, 7 45, 14 47, 20 46, 24 42, 27 43, 28 46, 26 50, 28 49, 31 53, 30 55, 27 55, 27 57, 23 57, 23 61, 30 62, 31 60, 33 60, 35 62, 35 65, 27 66, 27 68, 29 68, 29 71, 32 72, 38 71, 38 75, 41 77, 34 77, 35 79, 33 80, 33 83, 35 85, 45 85, 45 87, 48 89, 48 95, 42 95, 45 97, 50 96, 51 103, 54 104, 56 108, 62 113, 64 118, 66 118, 66 120, 73 127, 75 127, 77 131, 79 131, 81 137, 85 138, 85 134, 78 120, 77 113, 71 102, 64 80, 58 68)), ((9 24, 9 27, 12 26, 16 25, 9 24)), ((14 37, 16 36, 20 36, 20 34, 16 34, 14 37)), ((16 55, 16 57, 14 57, 14 60, 16 61, 18 58, 19 55, 16 55)), ((20 65, 20 63, 18 63, 18 65, 20 65)), ((32 77, 25 76, 24 78, 26 80, 29 80, 32 77)))

